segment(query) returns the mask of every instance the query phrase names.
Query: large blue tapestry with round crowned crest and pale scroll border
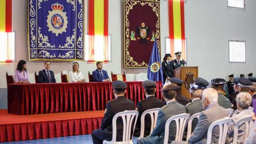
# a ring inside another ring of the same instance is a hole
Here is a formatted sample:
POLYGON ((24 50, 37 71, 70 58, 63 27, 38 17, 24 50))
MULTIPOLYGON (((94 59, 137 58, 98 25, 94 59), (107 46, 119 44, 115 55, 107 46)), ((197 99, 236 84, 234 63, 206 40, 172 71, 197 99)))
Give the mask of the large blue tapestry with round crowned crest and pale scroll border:
POLYGON ((84 60, 84 0, 28 0, 29 60, 84 60))

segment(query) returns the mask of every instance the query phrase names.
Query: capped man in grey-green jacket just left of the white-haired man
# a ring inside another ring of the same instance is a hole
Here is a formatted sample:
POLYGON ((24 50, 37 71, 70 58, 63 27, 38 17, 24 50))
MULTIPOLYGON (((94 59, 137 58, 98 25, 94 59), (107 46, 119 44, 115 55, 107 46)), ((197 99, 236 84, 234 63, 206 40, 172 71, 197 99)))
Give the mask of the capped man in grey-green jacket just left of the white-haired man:
MULTIPOLYGON (((202 91, 204 89, 206 89, 206 86, 202 82, 200 83, 195 82, 194 84, 190 84, 189 96, 192 102, 186 104, 185 106, 186 111, 188 114, 190 114, 190 116, 193 116, 193 114, 202 112, 204 110, 201 99, 200 99, 202 91)), ((192 121, 191 132, 194 131, 197 122, 198 120, 196 118, 192 121)))

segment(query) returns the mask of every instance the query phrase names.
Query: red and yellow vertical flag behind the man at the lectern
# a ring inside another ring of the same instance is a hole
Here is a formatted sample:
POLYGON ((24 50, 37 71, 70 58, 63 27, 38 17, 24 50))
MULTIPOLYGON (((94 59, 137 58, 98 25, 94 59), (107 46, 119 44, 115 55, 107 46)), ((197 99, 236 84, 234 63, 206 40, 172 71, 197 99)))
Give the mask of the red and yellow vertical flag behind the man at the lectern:
POLYGON ((171 55, 174 56, 175 52, 181 51, 182 59, 185 59, 184 0, 169 0, 168 15, 171 55))

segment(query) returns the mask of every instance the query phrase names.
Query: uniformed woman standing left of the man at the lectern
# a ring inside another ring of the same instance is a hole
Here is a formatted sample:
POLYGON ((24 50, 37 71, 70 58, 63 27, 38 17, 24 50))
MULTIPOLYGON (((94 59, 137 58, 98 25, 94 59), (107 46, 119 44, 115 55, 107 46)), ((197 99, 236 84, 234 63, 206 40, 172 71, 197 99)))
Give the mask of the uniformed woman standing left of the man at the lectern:
POLYGON ((164 61, 162 62, 164 83, 166 78, 170 80, 170 78, 173 76, 171 57, 171 54, 165 54, 164 61))

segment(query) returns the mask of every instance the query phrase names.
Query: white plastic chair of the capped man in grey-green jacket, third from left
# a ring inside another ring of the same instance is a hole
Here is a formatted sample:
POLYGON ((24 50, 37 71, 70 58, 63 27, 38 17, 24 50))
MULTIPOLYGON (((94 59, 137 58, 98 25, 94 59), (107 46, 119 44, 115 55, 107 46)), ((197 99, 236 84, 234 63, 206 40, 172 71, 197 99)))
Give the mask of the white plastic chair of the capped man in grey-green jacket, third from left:
POLYGON ((186 127, 186 124, 188 123, 189 117, 190 117, 190 114, 178 114, 176 116, 172 116, 168 118, 164 128, 164 144, 168 144, 170 123, 173 120, 176 122, 175 140, 182 140, 183 132, 186 127))

